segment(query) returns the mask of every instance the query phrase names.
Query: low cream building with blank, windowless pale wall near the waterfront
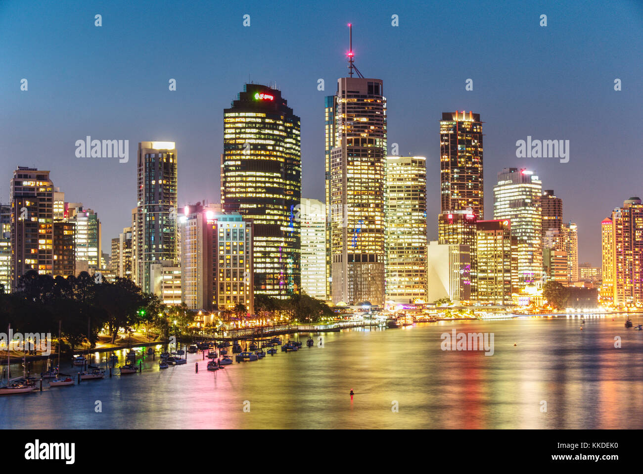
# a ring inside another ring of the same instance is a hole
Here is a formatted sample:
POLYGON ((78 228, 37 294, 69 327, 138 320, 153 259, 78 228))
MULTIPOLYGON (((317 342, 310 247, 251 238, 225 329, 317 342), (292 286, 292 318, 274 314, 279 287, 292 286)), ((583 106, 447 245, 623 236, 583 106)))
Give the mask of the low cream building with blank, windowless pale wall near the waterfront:
POLYGON ((429 242, 426 246, 428 302, 449 298, 458 303, 471 299, 470 257, 468 245, 429 242))

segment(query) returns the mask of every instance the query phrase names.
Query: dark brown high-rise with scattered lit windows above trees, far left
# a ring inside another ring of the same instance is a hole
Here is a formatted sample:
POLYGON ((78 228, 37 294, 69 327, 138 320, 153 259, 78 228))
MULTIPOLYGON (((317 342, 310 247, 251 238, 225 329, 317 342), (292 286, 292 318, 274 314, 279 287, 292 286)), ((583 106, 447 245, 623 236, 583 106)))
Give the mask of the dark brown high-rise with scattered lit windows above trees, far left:
POLYGON ((18 167, 10 183, 11 288, 30 270, 53 272, 53 183, 49 171, 18 167))

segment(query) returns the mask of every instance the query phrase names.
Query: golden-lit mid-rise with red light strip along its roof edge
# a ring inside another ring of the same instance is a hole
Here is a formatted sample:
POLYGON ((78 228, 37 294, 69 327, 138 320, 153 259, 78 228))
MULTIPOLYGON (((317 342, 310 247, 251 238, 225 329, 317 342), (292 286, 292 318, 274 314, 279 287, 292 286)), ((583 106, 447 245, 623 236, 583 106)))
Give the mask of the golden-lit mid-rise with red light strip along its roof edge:
POLYGON ((496 305, 511 304, 516 282, 511 221, 476 223, 476 299, 496 305))

